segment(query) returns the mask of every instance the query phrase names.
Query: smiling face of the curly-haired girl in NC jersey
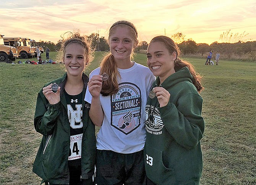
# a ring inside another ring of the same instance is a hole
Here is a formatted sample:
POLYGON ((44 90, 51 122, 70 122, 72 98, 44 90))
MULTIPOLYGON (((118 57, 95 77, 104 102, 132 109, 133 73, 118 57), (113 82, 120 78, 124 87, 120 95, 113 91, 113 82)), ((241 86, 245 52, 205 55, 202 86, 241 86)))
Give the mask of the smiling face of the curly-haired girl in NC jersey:
POLYGON ((78 43, 69 43, 63 57, 68 76, 82 76, 87 63, 86 51, 78 43))

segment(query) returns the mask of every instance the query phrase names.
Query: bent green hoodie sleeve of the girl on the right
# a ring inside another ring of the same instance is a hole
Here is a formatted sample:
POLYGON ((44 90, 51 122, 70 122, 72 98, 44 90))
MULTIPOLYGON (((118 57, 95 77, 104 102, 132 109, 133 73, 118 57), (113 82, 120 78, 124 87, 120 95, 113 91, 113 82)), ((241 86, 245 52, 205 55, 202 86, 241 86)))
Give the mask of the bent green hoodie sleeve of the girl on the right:
POLYGON ((169 102, 167 106, 159 108, 166 129, 185 148, 193 148, 203 138, 202 103, 200 95, 188 93, 179 98, 176 105, 169 102))

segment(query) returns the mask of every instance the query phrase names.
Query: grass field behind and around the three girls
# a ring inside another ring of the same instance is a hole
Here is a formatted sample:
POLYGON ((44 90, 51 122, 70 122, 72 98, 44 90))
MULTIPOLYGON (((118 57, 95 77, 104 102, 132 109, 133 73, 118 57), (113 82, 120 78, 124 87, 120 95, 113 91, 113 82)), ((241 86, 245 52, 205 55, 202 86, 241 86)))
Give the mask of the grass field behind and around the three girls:
MULTIPOLYGON (((50 52, 50 58, 55 54, 50 52)), ((95 55, 86 74, 99 66, 103 53, 95 55)), ((144 54, 134 60, 146 65, 144 54)), ((219 66, 209 66, 204 59, 186 60, 203 75, 205 87, 201 93, 206 128, 200 184, 256 184, 256 62, 220 60, 219 66)), ((0 184, 40 184, 32 172, 42 137, 33 124, 37 93, 62 76, 64 69, 61 64, 0 63, 0 184)))

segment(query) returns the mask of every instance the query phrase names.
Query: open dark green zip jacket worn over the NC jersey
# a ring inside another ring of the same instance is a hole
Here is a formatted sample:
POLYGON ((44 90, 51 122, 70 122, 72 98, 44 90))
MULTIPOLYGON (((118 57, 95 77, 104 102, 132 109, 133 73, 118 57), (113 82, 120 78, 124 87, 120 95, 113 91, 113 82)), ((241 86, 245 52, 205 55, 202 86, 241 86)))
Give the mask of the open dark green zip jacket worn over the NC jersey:
MULTIPOLYGON (((83 74, 86 92, 88 77, 83 74)), ((38 93, 34 126, 43 135, 41 145, 33 165, 33 172, 41 177, 42 183, 68 184, 68 155, 70 151, 70 124, 68 121, 67 103, 63 92, 66 84, 66 74, 53 80, 45 86, 56 82, 61 87, 60 102, 50 105, 42 90, 38 93)), ((44 87, 45 87, 44 86, 44 87)), ((88 179, 94 174, 96 158, 95 126, 89 118, 90 104, 83 101, 83 138, 81 152, 82 179, 88 179)))

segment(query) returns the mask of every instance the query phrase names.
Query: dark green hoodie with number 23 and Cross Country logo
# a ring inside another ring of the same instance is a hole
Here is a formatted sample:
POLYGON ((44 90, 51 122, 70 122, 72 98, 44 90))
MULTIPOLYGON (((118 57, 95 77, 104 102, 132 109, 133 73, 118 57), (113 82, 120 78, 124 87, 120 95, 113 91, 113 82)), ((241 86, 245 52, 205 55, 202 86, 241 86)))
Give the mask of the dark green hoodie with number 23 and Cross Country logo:
MULTIPOLYGON (((192 80, 188 68, 181 68, 161 84, 171 94, 166 106, 160 108, 157 97, 147 100, 145 167, 147 177, 157 185, 199 184, 203 98, 192 80)), ((152 88, 159 85, 157 77, 152 88)))

